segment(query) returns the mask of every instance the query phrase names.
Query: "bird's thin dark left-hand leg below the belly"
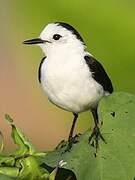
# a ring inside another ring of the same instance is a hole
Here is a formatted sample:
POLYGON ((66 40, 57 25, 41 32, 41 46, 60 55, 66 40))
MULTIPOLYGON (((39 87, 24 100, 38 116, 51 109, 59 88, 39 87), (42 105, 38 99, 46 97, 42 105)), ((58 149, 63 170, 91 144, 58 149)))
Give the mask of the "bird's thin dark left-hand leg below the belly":
POLYGON ((72 122, 72 126, 69 132, 69 136, 68 136, 68 146, 66 148, 66 151, 70 151, 70 149, 72 148, 72 144, 74 143, 74 137, 73 137, 73 132, 74 132, 74 128, 75 128, 75 124, 76 124, 76 120, 78 118, 78 114, 73 113, 74 115, 74 119, 72 122))

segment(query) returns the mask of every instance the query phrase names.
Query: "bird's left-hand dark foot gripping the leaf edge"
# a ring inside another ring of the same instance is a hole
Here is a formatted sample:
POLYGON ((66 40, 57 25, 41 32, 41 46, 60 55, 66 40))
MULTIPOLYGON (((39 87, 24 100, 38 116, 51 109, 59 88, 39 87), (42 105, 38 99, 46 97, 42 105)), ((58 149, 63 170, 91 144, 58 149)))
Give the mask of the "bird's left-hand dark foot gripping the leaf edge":
POLYGON ((76 144, 79 142, 80 136, 81 136, 81 134, 79 133, 79 134, 76 134, 74 137, 69 138, 65 152, 71 151, 73 144, 76 144))

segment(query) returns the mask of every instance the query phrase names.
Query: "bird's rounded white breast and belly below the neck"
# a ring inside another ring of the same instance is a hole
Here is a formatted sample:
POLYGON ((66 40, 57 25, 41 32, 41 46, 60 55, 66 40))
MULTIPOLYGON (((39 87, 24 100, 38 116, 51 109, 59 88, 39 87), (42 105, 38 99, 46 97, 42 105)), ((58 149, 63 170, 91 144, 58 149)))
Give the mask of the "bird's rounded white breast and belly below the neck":
POLYGON ((92 78, 83 53, 51 54, 41 67, 41 84, 49 100, 74 113, 95 106, 104 93, 92 78))

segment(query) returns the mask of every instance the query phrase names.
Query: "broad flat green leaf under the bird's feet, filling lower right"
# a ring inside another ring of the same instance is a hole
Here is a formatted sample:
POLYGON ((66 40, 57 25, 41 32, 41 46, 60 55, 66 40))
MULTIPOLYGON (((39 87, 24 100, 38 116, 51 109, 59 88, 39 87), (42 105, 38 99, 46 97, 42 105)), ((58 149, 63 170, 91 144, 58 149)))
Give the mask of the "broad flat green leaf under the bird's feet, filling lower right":
POLYGON ((134 180, 135 96, 113 93, 101 100, 98 114, 107 143, 99 140, 96 156, 95 148, 88 144, 88 130, 70 152, 62 153, 65 147, 56 149, 45 156, 44 163, 54 168, 63 160, 62 168, 74 172, 77 180, 134 180))

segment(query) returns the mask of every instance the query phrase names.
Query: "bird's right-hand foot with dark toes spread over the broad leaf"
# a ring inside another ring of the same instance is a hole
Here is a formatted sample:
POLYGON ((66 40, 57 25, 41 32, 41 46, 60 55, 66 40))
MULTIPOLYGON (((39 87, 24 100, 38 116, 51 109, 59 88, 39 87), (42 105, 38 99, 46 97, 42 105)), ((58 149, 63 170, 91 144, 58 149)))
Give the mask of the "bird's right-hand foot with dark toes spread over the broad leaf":
POLYGON ((98 126, 95 126, 93 131, 92 131, 92 134, 91 136, 89 137, 89 143, 95 147, 96 149, 96 153, 97 153, 97 150, 99 148, 99 140, 101 140, 106 143, 104 137, 102 136, 101 132, 100 132, 100 128, 98 126))

